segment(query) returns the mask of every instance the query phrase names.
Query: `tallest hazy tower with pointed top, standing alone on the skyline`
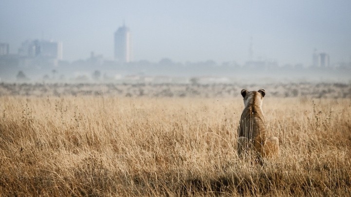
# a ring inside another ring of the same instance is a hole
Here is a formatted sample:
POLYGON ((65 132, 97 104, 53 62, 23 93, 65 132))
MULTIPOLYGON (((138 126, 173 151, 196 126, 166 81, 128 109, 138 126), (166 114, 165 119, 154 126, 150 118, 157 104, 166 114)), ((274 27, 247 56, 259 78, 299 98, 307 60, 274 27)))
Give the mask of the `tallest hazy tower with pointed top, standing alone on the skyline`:
POLYGON ((123 63, 132 61, 131 34, 125 24, 114 33, 114 59, 123 63))

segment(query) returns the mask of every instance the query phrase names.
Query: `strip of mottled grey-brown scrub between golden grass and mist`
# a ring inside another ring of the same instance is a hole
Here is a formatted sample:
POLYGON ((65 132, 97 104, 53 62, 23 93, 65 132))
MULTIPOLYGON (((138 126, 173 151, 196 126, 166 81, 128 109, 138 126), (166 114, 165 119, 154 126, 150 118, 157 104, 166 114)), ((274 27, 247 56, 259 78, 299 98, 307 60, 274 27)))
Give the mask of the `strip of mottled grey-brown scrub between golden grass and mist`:
POLYGON ((212 84, 172 84, 172 83, 0 83, 0 96, 99 96, 108 97, 152 97, 152 98, 232 98, 240 95, 243 88, 259 90, 264 87, 275 98, 308 97, 317 99, 351 98, 349 83, 212 83, 212 84))

